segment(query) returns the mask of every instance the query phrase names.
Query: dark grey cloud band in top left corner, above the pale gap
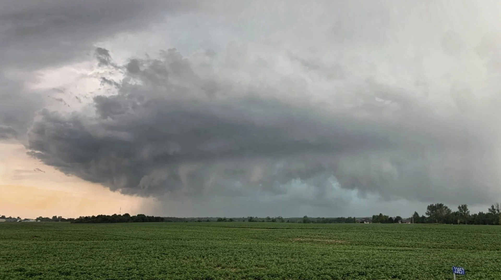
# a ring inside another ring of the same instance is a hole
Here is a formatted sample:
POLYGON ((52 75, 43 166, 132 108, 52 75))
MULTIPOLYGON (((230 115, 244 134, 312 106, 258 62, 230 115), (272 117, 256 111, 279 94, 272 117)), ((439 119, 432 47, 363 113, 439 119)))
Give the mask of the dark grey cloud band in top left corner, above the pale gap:
POLYGON ((0 58, 40 67, 81 58, 100 39, 138 30, 196 1, 21 0, 0 3, 0 58))

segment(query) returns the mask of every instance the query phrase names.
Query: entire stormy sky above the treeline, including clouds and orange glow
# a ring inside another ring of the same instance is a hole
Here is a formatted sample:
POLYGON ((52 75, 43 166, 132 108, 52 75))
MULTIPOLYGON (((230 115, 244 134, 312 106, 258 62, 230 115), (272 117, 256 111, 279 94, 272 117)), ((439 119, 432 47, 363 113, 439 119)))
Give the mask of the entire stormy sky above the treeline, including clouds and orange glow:
POLYGON ((0 3, 0 214, 501 201, 501 3, 0 3))

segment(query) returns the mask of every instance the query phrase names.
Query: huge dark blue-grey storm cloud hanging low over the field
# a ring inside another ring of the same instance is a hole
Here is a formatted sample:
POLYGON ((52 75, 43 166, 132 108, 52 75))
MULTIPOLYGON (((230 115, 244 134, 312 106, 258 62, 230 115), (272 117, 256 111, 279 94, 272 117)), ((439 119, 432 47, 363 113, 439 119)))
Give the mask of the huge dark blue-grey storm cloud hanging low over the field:
POLYGON ((372 79, 353 93, 362 103, 333 108, 292 98, 284 82, 207 72, 174 49, 118 67, 118 93, 96 96, 95 115, 41 112, 32 156, 142 196, 280 195, 303 183, 322 201, 337 179, 385 199, 483 203, 500 182, 493 110, 440 114, 372 79))

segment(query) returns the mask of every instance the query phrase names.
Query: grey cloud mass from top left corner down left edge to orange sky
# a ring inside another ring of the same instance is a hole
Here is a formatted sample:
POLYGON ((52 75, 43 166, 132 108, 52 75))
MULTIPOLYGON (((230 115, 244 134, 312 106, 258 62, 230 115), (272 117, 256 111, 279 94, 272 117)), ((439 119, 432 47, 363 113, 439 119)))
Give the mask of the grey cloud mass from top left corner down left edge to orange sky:
POLYGON ((177 0, 2 1, 0 139, 24 135, 35 112, 45 106, 40 96, 22 89, 33 78, 31 70, 85 58, 97 40, 145 28, 194 5, 177 0), (12 70, 20 71, 16 81, 5 76, 12 70))

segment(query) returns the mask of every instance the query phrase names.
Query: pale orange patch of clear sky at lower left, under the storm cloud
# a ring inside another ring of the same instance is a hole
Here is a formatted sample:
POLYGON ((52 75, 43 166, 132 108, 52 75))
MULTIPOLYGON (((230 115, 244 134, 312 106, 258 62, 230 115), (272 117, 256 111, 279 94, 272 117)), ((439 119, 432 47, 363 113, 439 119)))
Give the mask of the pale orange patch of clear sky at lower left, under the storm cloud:
POLYGON ((0 215, 78 217, 119 213, 120 207, 137 214, 153 202, 67 176, 27 155, 19 143, 0 143, 0 154, 0 215))

